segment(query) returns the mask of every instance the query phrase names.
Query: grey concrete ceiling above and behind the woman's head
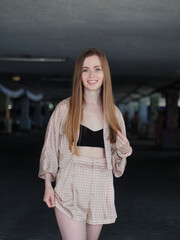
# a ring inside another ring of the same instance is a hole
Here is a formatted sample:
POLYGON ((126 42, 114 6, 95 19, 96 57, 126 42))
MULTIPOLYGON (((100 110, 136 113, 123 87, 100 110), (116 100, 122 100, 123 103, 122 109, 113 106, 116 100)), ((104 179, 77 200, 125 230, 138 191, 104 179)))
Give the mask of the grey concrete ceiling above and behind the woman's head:
POLYGON ((118 102, 164 86, 179 88, 180 2, 0 1, 1 59, 67 58, 65 63, 1 60, 0 82, 5 86, 27 87, 43 92, 47 100, 58 101, 71 94, 75 60, 87 47, 105 52, 118 102), (11 77, 16 74, 22 81, 12 83, 11 77))

